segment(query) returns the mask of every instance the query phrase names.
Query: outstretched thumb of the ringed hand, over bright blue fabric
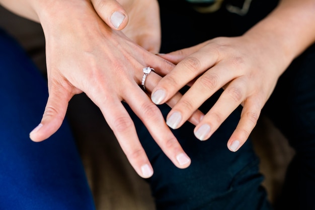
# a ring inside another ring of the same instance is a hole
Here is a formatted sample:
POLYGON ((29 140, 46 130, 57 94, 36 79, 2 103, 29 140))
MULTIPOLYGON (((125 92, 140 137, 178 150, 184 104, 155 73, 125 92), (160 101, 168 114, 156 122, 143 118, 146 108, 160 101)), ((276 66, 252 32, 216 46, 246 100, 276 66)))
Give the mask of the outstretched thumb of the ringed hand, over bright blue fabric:
POLYGON ((65 117, 68 102, 73 94, 65 91, 58 83, 52 83, 45 111, 41 122, 30 132, 34 142, 41 142, 55 133, 61 126, 65 117))

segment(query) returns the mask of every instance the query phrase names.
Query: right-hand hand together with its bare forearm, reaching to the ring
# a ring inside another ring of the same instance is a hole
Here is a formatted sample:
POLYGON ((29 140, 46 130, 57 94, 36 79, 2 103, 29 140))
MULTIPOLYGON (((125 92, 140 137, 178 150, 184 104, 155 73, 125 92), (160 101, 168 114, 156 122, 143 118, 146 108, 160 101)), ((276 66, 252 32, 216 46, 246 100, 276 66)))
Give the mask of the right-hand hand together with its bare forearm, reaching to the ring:
POLYGON ((167 116, 167 123, 176 129, 214 92, 223 88, 219 100, 194 132, 201 141, 208 139, 242 105, 238 126, 227 142, 229 150, 235 152, 255 127, 278 78, 295 57, 314 43, 313 20, 313 0, 283 0, 242 36, 218 37, 161 55, 177 65, 156 85, 151 99, 155 104, 163 104, 194 81, 167 116), (179 116, 178 123, 171 117, 174 113, 179 116))

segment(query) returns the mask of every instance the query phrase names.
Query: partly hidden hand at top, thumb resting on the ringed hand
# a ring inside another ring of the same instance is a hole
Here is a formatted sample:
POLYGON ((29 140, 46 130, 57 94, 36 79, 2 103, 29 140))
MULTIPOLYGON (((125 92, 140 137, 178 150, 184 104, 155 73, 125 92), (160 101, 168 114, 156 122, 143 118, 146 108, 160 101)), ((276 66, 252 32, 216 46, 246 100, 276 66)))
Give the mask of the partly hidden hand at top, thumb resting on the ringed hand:
POLYGON ((91 0, 102 20, 113 29, 122 30, 149 52, 161 46, 159 4, 156 0, 91 0), (127 25, 128 23, 128 25, 127 25))

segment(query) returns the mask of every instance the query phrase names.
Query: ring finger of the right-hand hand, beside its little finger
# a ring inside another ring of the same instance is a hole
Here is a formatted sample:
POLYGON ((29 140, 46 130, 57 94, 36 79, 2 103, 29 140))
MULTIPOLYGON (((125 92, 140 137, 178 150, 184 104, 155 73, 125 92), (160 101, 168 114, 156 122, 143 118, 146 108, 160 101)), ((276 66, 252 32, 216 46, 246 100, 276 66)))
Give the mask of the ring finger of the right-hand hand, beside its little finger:
POLYGON ((194 129, 195 136, 204 141, 208 139, 223 121, 240 106, 246 96, 246 84, 242 79, 232 81, 219 99, 194 129))

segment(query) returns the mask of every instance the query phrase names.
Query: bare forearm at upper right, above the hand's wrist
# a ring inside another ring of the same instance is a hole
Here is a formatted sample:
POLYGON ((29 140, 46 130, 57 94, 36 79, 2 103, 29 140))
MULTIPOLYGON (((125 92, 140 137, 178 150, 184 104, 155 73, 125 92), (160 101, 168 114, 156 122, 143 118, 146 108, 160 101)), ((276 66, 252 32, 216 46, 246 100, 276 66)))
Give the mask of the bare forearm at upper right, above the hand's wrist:
POLYGON ((315 41, 314 20, 313 0, 282 0, 269 16, 245 35, 275 47, 290 62, 315 41))

